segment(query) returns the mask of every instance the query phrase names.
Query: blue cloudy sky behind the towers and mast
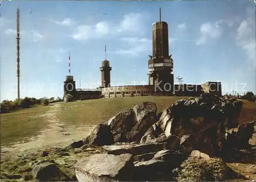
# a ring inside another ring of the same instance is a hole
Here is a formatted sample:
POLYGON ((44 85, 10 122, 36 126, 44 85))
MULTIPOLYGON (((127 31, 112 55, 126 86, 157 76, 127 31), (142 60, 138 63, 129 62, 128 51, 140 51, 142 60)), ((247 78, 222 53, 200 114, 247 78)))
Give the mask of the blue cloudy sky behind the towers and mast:
POLYGON ((62 97, 100 85, 106 57, 111 84, 148 84, 152 24, 168 23, 175 83, 222 82, 222 93, 256 94, 253 1, 4 1, 1 10, 1 101, 17 98, 16 9, 20 8, 20 97, 62 97))

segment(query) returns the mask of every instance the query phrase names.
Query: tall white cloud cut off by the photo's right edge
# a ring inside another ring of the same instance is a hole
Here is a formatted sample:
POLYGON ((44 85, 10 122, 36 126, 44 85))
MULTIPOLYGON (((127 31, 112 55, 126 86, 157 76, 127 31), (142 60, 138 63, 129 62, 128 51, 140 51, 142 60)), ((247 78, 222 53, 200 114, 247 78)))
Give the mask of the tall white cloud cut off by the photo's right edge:
POLYGON ((240 23, 237 29, 236 45, 242 48, 247 55, 247 59, 253 65, 255 71, 255 55, 256 55, 256 43, 255 43, 255 12, 247 9, 248 18, 240 23))

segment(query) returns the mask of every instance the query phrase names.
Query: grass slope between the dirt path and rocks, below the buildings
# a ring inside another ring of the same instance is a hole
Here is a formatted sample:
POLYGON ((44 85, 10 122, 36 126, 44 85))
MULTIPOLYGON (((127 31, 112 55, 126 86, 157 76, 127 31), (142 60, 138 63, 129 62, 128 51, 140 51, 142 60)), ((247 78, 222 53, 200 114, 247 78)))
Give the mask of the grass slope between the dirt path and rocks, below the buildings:
POLYGON ((96 125, 109 120, 124 109, 133 108, 141 102, 154 102, 157 104, 158 112, 168 107, 179 99, 189 97, 124 97, 109 99, 94 99, 63 103, 58 118, 67 125, 96 125))

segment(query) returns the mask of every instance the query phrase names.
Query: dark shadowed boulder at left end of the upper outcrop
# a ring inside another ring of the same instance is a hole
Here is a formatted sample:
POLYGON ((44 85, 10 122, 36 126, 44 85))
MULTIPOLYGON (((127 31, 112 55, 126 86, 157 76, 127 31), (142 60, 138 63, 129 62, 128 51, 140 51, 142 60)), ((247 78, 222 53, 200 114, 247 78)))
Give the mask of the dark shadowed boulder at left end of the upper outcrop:
POLYGON ((84 140, 82 145, 111 145, 114 143, 113 135, 108 123, 104 122, 95 126, 91 134, 84 140))

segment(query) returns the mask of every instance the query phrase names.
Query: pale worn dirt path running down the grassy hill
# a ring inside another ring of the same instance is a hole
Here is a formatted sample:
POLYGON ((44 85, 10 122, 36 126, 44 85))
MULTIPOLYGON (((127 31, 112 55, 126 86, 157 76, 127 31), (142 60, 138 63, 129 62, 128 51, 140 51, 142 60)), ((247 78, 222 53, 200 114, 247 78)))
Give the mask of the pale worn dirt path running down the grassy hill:
POLYGON ((58 118, 57 113, 60 111, 61 105, 55 103, 50 106, 50 110, 44 117, 50 124, 46 129, 42 130, 36 137, 26 139, 28 142, 21 142, 12 145, 11 147, 1 147, 1 155, 17 155, 20 153, 27 153, 36 150, 44 150, 52 146, 69 145, 72 141, 81 140, 87 137, 93 129, 93 125, 84 127, 67 127, 58 118))

